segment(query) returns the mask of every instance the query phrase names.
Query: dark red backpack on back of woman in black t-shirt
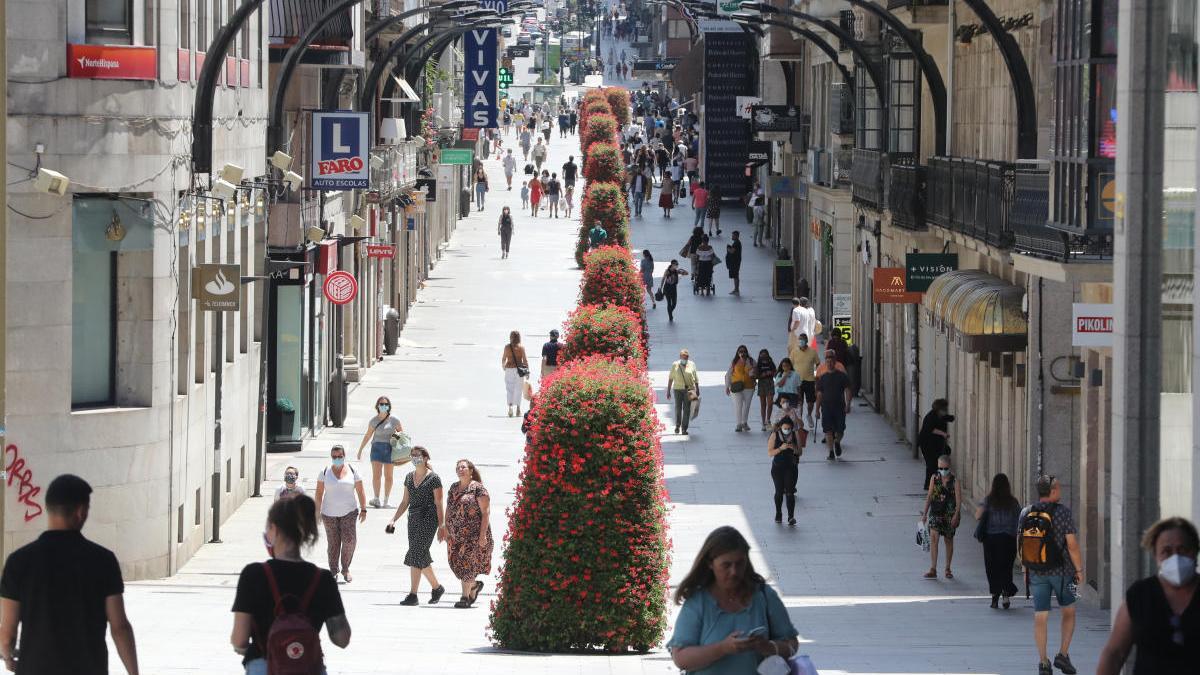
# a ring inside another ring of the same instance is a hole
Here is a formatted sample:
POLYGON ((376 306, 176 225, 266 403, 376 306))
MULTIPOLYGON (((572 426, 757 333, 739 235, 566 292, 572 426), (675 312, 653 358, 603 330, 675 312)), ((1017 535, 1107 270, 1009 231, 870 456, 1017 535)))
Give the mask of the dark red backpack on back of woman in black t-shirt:
MULTIPOLYGON (((275 621, 271 622, 271 629, 266 632, 266 644, 263 652, 266 657, 266 673, 269 675, 320 675, 324 669, 320 634, 308 620, 308 603, 312 602, 312 596, 317 592, 320 569, 313 571, 308 590, 300 598, 300 604, 296 605, 295 610, 289 610, 284 605, 284 596, 280 595, 280 585, 275 581, 275 573, 271 572, 270 565, 263 563, 263 573, 266 574, 266 583, 271 586, 271 597, 275 598, 275 621)), ((286 597, 295 599, 292 593, 286 597)))

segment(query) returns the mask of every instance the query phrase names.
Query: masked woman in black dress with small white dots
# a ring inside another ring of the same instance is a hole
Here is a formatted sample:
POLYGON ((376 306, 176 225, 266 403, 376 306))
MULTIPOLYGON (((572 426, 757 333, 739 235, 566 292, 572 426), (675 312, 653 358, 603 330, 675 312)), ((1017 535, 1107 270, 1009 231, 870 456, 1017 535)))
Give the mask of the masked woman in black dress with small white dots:
POLYGON ((416 590, 421 584, 421 575, 433 589, 430 604, 440 601, 442 593, 446 592, 433 574, 433 556, 430 555, 433 534, 437 533, 439 542, 446 538, 442 503, 442 478, 430 466, 430 452, 414 446, 413 472, 404 477, 404 501, 400 502, 386 527, 388 533, 395 532, 396 521, 408 510, 408 552, 404 554, 404 565, 408 566, 409 591, 400 604, 414 605, 420 602, 416 599, 416 590))

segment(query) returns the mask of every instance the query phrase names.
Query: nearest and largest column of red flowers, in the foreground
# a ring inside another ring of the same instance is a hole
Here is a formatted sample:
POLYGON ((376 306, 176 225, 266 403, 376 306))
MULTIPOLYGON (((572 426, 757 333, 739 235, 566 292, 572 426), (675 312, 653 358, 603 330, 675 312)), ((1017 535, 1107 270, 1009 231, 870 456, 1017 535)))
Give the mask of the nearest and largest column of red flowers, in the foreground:
POLYGON ((550 376, 509 510, 490 633, 532 651, 646 651, 666 631, 670 542, 644 369, 586 357, 550 376))

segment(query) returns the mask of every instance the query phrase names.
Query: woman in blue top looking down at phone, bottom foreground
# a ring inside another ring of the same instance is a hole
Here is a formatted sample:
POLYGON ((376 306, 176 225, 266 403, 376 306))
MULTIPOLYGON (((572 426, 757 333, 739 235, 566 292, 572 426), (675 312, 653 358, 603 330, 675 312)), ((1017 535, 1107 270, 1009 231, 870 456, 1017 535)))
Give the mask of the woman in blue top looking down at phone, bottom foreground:
POLYGON ((750 563, 750 544, 730 526, 704 539, 679 584, 667 647, 689 675, 754 675, 769 656, 796 653, 796 627, 779 595, 750 563))

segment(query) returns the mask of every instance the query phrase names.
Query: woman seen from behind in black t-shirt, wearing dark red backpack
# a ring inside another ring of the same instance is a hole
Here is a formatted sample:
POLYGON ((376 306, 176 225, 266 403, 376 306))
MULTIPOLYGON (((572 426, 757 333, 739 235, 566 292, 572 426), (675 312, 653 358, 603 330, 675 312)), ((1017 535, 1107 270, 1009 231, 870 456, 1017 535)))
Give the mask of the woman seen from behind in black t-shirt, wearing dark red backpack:
MULTIPOLYGON (((350 622, 346 619, 337 581, 329 572, 300 557, 302 546, 317 542, 317 507, 305 495, 280 500, 266 514, 266 562, 252 562, 238 578, 238 595, 233 599, 233 643, 242 655, 246 675, 266 675, 264 640, 275 622, 275 607, 282 596, 312 595, 302 614, 320 631, 324 626, 329 640, 346 649, 350 644, 350 622), (272 589, 277 589, 275 592, 272 589)), ((324 665, 322 665, 324 673, 324 665)))

